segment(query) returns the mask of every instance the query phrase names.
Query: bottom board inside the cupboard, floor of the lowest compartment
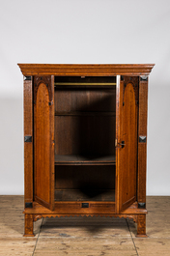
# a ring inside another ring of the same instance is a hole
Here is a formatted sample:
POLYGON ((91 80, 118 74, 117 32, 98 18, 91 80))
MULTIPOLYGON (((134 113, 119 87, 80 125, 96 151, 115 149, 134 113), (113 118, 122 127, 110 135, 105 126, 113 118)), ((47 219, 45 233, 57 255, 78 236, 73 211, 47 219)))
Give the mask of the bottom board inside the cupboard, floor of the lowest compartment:
POLYGON ((115 201, 115 189, 55 189, 55 201, 115 201))

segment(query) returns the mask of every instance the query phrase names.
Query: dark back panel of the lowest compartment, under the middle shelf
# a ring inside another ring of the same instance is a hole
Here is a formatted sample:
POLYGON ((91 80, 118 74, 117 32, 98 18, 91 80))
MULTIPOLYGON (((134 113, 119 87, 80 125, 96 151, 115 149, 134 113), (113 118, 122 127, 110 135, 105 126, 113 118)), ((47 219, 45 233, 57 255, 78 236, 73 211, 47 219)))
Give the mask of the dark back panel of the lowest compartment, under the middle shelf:
POLYGON ((55 166, 55 189, 114 189, 115 166, 55 166))

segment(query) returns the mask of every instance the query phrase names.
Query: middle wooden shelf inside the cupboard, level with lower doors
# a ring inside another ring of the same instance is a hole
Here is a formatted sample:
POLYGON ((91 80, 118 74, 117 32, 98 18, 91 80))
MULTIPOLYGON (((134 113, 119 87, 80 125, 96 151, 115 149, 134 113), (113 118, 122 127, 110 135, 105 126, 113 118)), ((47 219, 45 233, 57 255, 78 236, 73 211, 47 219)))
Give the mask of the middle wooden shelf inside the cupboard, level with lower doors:
POLYGON ((115 165, 115 156, 55 155, 55 165, 115 165))

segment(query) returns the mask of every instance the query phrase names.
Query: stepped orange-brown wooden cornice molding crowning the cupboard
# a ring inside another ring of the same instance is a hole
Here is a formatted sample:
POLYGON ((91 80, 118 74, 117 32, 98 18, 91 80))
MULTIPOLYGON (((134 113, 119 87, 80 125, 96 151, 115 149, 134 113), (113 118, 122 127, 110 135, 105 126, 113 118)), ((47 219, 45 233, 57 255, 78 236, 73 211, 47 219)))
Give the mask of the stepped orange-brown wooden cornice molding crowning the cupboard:
POLYGON ((25 76, 149 75, 155 64, 17 64, 25 76))

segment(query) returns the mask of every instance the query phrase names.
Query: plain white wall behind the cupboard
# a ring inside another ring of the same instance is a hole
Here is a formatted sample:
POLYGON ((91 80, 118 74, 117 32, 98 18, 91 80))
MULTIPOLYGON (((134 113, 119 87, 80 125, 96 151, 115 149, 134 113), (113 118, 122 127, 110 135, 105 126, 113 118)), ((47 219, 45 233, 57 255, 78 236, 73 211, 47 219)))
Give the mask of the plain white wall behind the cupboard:
POLYGON ((23 194, 17 63, 156 63, 150 76, 148 195, 170 195, 170 1, 0 0, 0 194, 23 194))

